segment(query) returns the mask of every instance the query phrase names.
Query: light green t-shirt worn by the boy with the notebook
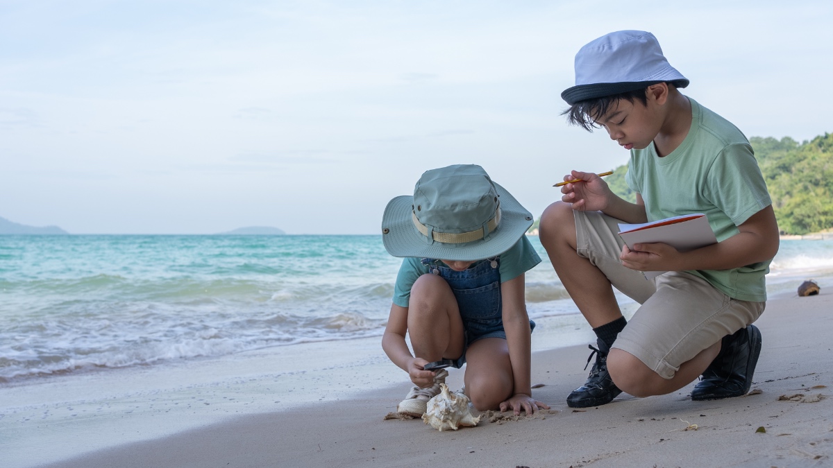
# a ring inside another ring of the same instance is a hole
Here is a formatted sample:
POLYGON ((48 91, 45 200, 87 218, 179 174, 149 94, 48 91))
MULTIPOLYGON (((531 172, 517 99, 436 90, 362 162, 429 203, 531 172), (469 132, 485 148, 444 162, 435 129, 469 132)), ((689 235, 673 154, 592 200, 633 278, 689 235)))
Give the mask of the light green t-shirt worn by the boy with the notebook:
MULTIPOLYGON (((746 137, 691 97, 691 129, 680 147, 658 157, 654 143, 631 150, 626 181, 645 201, 648 221, 705 213, 717 241, 772 204, 746 137)), ((766 301, 771 260, 731 270, 688 271, 741 301, 766 301)))

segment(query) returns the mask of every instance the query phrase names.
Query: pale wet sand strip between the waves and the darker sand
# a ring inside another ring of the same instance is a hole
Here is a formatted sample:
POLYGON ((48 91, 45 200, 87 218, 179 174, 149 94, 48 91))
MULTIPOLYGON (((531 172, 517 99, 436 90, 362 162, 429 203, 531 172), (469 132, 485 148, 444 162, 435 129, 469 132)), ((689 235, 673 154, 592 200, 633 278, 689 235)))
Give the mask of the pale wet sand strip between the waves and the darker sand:
MULTIPOLYGON (((623 304, 630 316, 636 303, 623 304)), ((577 346, 581 367, 595 341, 581 314, 536 319, 532 351, 577 346)), ((317 341, 0 386, 3 466, 42 466, 141 441, 165 440, 243 417, 338 405, 368 393, 397 395, 411 384, 387 359, 381 336, 317 341), (49 450, 43 450, 49 447, 49 450)), ((581 369, 580 367, 580 369, 581 369)), ((448 379, 459 389, 462 371, 448 379)), ((399 394, 402 395, 399 395, 399 394)))

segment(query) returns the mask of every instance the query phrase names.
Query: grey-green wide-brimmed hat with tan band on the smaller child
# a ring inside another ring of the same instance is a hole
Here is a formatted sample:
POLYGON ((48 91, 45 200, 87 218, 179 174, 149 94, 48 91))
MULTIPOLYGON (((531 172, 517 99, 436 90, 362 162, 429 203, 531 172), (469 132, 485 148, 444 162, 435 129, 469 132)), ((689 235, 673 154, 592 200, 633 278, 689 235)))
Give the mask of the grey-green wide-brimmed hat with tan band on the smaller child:
POLYGON ((532 215, 474 164, 431 169, 413 197, 387 203, 382 241, 392 256, 475 261, 498 256, 532 226, 532 215))

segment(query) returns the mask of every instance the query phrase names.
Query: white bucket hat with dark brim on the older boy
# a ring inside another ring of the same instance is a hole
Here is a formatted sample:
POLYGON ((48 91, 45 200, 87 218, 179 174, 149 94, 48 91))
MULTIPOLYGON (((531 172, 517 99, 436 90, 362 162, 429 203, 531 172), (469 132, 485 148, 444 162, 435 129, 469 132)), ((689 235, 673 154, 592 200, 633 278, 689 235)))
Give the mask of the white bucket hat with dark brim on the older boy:
POLYGON ((576 53, 576 86, 561 97, 576 102, 636 91, 660 82, 688 86, 662 55, 660 42, 651 32, 616 31, 587 43, 576 53))

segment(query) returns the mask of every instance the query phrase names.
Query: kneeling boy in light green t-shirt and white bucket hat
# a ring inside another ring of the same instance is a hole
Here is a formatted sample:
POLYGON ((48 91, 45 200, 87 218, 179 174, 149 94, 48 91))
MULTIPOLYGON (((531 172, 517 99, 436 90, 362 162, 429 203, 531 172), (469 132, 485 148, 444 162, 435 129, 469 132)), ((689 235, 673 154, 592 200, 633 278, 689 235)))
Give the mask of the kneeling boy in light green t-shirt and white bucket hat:
MULTIPOLYGON (((764 276, 778 226, 746 137, 682 95, 689 81, 650 32, 611 32, 576 54, 576 86, 561 93, 569 122, 604 127, 631 152, 626 181, 636 203, 591 172, 564 180, 541 216, 541 244, 598 336, 596 363, 567 398, 609 403, 621 391, 663 395, 698 376, 692 400, 745 395, 761 352, 751 325, 766 306, 764 276), (706 213, 717 243, 681 252, 664 243, 631 251, 618 222, 706 213), (646 280, 641 271, 668 271, 646 280), (611 286, 641 304, 621 315, 611 286)), ((593 354, 591 354, 591 357, 593 354)), ((590 358, 588 358, 588 363, 590 358)))

